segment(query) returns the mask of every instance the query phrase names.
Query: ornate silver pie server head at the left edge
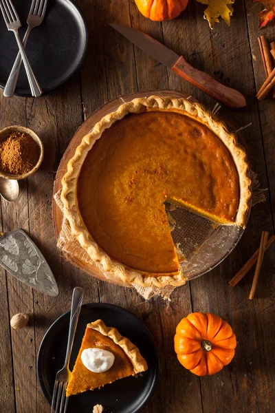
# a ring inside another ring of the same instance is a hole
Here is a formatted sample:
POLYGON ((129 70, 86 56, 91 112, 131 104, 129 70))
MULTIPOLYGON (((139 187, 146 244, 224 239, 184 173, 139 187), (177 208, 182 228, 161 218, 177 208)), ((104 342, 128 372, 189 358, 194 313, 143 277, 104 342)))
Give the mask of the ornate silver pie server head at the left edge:
POLYGON ((22 229, 0 233, 0 265, 40 293, 58 295, 56 280, 39 248, 22 229))

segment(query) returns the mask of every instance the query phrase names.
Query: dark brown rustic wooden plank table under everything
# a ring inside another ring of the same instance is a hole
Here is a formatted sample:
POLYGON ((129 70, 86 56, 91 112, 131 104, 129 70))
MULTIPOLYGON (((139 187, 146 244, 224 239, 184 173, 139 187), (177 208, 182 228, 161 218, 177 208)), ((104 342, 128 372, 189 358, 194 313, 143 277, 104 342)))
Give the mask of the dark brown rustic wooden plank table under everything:
MULTIPOLYGON (((0 277, 0 411, 46 413, 36 377, 36 356, 47 328, 69 310, 72 289, 85 289, 84 301, 107 302, 131 310, 155 337, 161 362, 157 390, 144 412, 210 413, 274 412, 275 405, 275 248, 265 255, 256 299, 248 299, 253 271, 234 288, 230 278, 259 246, 261 231, 274 231, 275 207, 275 101, 254 97, 265 79, 257 43, 259 3, 236 1, 231 27, 208 28, 203 6, 190 0, 179 18, 153 23, 137 12, 133 0, 78 1, 89 25, 89 50, 83 70, 67 85, 42 98, 3 98, 0 92, 0 127, 28 126, 41 136, 45 159, 38 173, 20 182, 14 204, 1 200, 1 231, 21 227, 38 244, 50 263, 60 293, 52 298, 20 284, 1 269, 0 277), (52 226, 52 189, 61 156, 76 128, 97 107, 120 94, 150 89, 177 89, 192 94, 210 109, 214 101, 181 81, 166 67, 112 30, 116 22, 138 28, 214 78, 239 89, 248 108, 221 114, 245 129, 245 146, 267 202, 257 204, 239 245, 220 266, 177 288, 170 305, 162 299, 148 304, 135 290, 97 281, 74 268, 56 248, 52 226), (140 304, 140 305, 138 305, 140 304), (230 322, 238 346, 232 363, 212 377, 199 379, 182 368, 174 354, 175 326, 191 311, 212 312, 230 322), (23 312, 31 321, 23 330, 10 330, 10 317, 23 312), (272 407, 273 406, 273 407, 272 407)), ((275 25, 262 30, 271 41, 275 25)))

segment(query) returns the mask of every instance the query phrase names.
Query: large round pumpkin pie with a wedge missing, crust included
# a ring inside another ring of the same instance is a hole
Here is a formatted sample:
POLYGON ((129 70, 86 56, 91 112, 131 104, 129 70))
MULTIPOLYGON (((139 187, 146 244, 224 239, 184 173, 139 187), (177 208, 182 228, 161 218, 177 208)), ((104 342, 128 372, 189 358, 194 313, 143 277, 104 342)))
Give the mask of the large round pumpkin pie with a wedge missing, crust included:
POLYGON ((245 226, 244 149, 198 103, 136 98, 104 116, 68 162, 65 218, 91 259, 140 286, 184 284, 164 202, 217 224, 245 226))

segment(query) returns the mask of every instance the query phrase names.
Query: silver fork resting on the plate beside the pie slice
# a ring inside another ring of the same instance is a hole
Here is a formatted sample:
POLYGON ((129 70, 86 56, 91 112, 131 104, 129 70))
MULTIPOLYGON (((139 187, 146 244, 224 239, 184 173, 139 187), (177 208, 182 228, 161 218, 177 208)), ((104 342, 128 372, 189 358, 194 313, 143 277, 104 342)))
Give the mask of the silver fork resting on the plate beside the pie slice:
POLYGON ((83 301, 83 288, 76 287, 73 291, 71 318, 69 321, 69 337, 67 342, 67 352, 63 369, 56 374, 56 381, 54 383, 54 394, 52 395, 51 413, 66 413, 69 397, 65 397, 66 388, 71 377, 69 371, 69 359, 71 358, 72 347, 74 343, 74 335, 76 334, 76 326, 78 324, 78 317, 83 301), (59 409, 59 410, 58 410, 59 409))

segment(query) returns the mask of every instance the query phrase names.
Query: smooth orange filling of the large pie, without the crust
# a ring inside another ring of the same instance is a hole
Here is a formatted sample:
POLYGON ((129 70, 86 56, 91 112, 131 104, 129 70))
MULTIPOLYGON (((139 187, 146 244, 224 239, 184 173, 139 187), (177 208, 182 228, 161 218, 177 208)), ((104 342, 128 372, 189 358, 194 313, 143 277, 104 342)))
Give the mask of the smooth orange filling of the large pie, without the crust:
POLYGON ((78 177, 80 215, 98 246, 129 268, 175 273, 164 201, 234 223, 239 174, 208 127, 175 112, 129 114, 105 129, 78 177))

